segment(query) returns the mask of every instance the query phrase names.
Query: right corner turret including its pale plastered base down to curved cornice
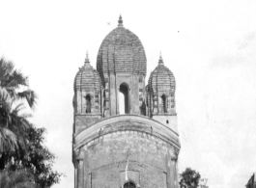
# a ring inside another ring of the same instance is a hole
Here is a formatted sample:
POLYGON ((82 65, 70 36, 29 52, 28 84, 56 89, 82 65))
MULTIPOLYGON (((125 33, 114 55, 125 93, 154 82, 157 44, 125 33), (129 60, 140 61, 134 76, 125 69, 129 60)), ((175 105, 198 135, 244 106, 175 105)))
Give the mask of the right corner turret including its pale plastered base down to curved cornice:
POLYGON ((149 78, 148 116, 178 133, 175 87, 174 75, 168 67, 163 65, 160 54, 158 65, 149 78))

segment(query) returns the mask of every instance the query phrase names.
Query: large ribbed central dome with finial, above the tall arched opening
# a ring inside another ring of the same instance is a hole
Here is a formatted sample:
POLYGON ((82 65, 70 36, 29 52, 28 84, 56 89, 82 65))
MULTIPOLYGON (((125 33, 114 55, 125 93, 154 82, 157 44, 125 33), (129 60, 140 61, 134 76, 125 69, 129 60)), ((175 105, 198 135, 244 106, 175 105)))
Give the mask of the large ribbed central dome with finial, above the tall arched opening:
POLYGON ((144 47, 136 35, 123 27, 120 16, 119 25, 111 31, 100 45, 97 69, 100 76, 110 72, 129 72, 146 75, 147 60, 144 47))

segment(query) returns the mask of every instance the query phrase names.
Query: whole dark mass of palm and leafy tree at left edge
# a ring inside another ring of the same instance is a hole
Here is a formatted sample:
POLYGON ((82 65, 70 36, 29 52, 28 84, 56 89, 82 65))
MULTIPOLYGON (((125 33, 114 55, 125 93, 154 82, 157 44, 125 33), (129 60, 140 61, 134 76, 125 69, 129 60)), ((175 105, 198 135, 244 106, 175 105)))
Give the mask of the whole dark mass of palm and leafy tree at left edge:
POLYGON ((50 187, 62 174, 52 171, 55 156, 43 145, 45 129, 35 128, 27 121, 29 115, 21 113, 25 101, 32 109, 37 101, 22 86, 28 86, 28 78, 0 59, 0 179, 6 182, 0 187, 50 187))

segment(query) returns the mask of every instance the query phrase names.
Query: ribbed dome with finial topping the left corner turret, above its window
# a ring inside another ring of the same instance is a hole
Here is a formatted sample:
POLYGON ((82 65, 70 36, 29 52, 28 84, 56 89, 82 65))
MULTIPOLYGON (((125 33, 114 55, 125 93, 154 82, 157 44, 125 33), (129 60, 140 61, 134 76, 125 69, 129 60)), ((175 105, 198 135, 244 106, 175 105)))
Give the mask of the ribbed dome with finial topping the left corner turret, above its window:
POLYGON ((83 67, 79 67, 74 78, 74 90, 97 90, 100 91, 101 81, 99 72, 89 62, 88 54, 83 67))

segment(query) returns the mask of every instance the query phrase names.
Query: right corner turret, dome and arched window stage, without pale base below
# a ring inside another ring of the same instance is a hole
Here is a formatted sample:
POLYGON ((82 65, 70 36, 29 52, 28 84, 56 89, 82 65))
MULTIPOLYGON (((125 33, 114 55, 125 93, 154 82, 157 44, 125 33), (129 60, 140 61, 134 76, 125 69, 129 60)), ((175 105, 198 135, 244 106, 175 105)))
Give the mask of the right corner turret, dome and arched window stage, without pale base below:
POLYGON ((175 114, 175 78, 168 67, 163 65, 160 55, 158 66, 149 78, 151 114, 175 114))

